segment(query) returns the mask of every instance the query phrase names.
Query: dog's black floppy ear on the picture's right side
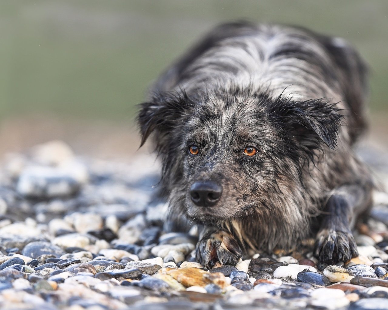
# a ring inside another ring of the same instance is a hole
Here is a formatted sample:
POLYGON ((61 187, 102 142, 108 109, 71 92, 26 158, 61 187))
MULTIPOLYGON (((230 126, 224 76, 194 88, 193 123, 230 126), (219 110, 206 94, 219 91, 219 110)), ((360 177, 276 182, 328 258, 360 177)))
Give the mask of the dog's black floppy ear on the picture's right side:
POLYGON ((330 148, 336 147, 343 116, 335 104, 322 98, 298 102, 284 100, 276 106, 277 122, 305 150, 312 152, 320 148, 322 142, 330 148))

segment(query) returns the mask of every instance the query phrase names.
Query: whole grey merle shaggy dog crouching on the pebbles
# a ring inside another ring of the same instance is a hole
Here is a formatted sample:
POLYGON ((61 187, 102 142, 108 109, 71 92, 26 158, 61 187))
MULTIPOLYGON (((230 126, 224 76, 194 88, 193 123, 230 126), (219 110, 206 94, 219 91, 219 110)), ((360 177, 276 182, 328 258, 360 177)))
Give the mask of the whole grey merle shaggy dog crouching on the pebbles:
POLYGON ((357 256, 373 184, 352 145, 365 65, 339 38, 282 25, 213 29, 154 83, 138 117, 163 163, 170 217, 203 225, 197 260, 316 238, 319 267, 357 256))

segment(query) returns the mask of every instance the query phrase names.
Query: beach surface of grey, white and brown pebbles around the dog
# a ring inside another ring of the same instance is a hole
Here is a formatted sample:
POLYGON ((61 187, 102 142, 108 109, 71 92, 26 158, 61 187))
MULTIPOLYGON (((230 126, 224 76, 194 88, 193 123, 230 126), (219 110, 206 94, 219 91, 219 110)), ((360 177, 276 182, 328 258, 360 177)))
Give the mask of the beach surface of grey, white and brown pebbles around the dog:
MULTIPOLYGON (((375 168, 385 177, 386 166, 375 168)), ((7 156, 0 307, 388 309, 386 194, 376 193, 355 232, 360 256, 349 262, 318 270, 307 240, 291 253, 252 253, 208 270, 195 260, 196 227, 166 232, 167 204, 150 203, 158 180, 158 167, 79 158, 61 141, 7 156)))

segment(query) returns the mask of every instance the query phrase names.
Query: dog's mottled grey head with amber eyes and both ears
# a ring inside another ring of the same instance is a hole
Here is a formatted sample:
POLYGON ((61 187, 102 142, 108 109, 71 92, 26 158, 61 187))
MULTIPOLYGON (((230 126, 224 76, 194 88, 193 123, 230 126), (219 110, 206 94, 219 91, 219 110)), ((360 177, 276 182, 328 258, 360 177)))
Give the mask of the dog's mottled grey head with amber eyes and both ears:
POLYGON ((326 99, 158 93, 142 103, 138 121, 142 144, 154 133, 171 205, 217 224, 275 211, 274 197, 292 195, 289 183, 303 183, 303 167, 336 145, 337 112, 326 99))

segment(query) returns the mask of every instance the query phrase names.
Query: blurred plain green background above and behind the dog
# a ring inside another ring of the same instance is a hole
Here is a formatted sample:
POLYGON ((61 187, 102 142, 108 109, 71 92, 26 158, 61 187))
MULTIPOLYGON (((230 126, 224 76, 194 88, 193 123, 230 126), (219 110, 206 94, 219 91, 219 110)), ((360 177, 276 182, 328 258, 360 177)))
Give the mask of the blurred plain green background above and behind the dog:
POLYGON ((350 41, 371 67, 372 113, 386 116, 387 16, 387 0, 2 0, 0 122, 50 115, 131 124, 172 60, 215 24, 240 19, 350 41))

